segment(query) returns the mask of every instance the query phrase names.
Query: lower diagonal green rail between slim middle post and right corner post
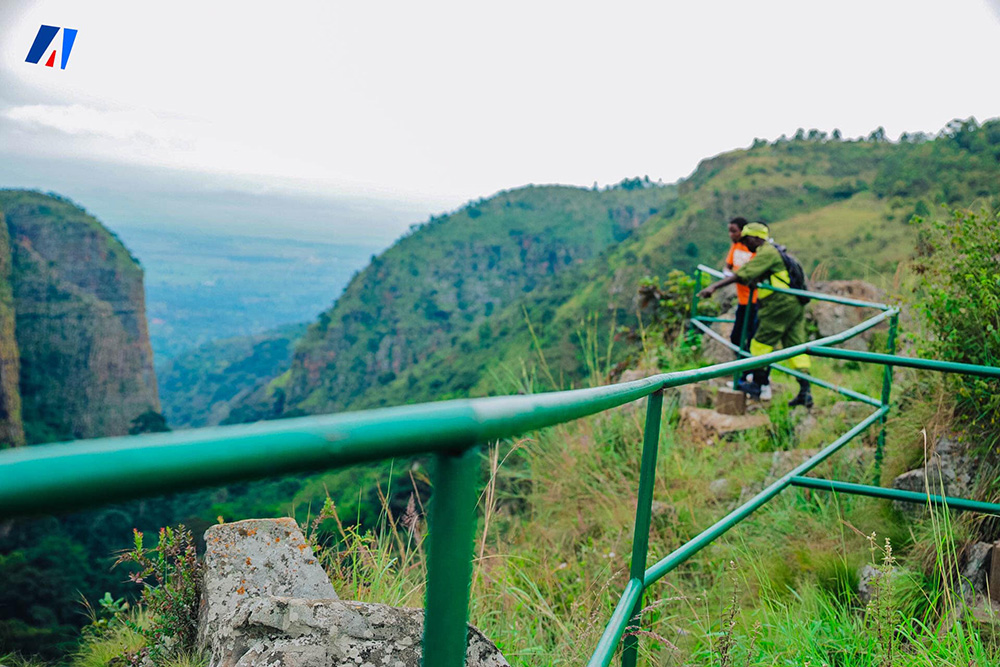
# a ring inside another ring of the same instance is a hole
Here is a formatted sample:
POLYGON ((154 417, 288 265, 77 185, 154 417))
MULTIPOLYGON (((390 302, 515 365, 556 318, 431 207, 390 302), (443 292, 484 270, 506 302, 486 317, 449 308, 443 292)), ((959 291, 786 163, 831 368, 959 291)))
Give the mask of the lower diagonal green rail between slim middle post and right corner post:
POLYGON ((725 533, 727 530, 738 524, 743 519, 753 514, 756 510, 760 509, 762 505, 774 498, 776 495, 781 493, 786 487, 791 484, 793 477, 803 475, 820 463, 828 459, 832 454, 834 454, 841 447, 846 445, 848 442, 857 437, 866 428, 877 422, 883 414, 885 414, 889 408, 883 407, 879 408, 871 415, 866 417, 860 424, 852 428, 850 431, 840 436, 832 443, 820 450, 815 456, 810 458, 808 461, 802 463, 801 465, 795 467, 790 472, 788 472, 784 477, 775 481, 770 486, 765 488, 763 491, 758 493, 756 496, 743 503, 735 510, 727 514, 723 519, 716 522, 712 527, 707 530, 702 531, 697 537, 689 540, 680 548, 674 550, 669 555, 664 557, 658 563, 654 564, 648 570, 646 570, 646 575, 643 579, 643 584, 646 588, 651 586, 665 574, 676 568, 677 566, 684 563, 686 560, 694 556, 696 553, 711 544, 716 538, 725 533))

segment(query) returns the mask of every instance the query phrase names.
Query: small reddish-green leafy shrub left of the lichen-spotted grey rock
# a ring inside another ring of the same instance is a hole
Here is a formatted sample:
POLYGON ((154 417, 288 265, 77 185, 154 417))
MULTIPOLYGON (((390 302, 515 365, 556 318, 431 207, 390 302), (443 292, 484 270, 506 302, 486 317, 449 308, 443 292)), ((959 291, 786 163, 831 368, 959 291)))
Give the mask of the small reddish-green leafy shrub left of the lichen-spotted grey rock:
POLYGON ((160 529, 153 548, 145 547, 143 534, 134 531, 131 551, 116 565, 132 563, 138 571, 129 578, 142 588, 142 604, 149 618, 147 626, 126 620, 134 632, 146 639, 142 656, 129 656, 132 662, 148 656, 155 667, 192 651, 198 632, 198 594, 202 565, 198 561, 194 536, 184 526, 160 529))

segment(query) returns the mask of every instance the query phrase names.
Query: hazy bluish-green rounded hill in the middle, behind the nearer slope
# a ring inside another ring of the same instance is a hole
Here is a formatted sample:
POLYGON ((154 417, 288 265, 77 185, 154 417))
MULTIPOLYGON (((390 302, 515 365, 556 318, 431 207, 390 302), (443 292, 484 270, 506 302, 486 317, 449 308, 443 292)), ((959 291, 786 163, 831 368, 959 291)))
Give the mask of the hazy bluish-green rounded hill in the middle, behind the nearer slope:
MULTIPOLYGON (((373 258, 310 328, 290 370, 230 421, 354 405, 634 233, 674 192, 637 179, 601 191, 528 186, 432 218, 373 258)), ((392 391, 408 400, 405 386, 392 391)))

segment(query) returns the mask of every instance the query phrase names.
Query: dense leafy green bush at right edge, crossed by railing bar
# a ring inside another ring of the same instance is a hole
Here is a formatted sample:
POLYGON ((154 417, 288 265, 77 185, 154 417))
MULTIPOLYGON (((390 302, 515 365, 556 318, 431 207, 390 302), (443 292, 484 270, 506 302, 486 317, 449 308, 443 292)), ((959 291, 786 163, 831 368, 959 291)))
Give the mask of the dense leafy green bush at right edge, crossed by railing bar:
MULTIPOLYGON (((917 310, 930 336, 921 352, 947 361, 1000 365, 1000 215, 958 209, 949 220, 917 219, 917 310)), ((951 376, 962 413, 988 435, 1000 437, 1000 381, 951 376)))

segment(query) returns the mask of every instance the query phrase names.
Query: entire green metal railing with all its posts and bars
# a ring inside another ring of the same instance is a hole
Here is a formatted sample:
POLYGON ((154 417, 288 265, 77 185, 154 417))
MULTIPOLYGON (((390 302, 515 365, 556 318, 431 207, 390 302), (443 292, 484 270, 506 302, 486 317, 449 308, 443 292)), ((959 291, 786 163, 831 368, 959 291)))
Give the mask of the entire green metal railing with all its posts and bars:
MULTIPOLYGON (((696 278, 699 287, 703 272, 715 275, 707 267, 700 270, 696 278)), ((465 661, 472 544, 476 526, 476 487, 479 482, 479 447, 490 441, 566 423, 646 398, 646 423, 629 581, 589 662, 591 666, 610 664, 624 636, 622 664, 632 667, 636 662, 638 637, 636 633, 626 634, 625 631, 627 627, 638 627, 640 624, 642 599, 649 586, 789 486, 860 493, 1000 514, 1000 505, 804 477, 876 422, 883 429, 879 440, 881 448, 884 442, 885 417, 889 412, 892 366, 1000 378, 1000 369, 997 368, 833 349, 829 346, 842 343, 886 321, 890 323, 890 332, 895 331, 899 311, 884 304, 811 292, 808 294, 817 300, 871 307, 881 312, 839 334, 759 357, 663 373, 606 387, 529 396, 444 401, 248 426, 204 428, 10 449, 0 452, 0 519, 77 510, 112 501, 278 474, 329 470, 389 457, 430 455, 434 459, 431 476, 434 500, 429 517, 423 662, 435 667, 459 667, 465 661), (803 353, 885 364, 881 399, 803 375, 778 363, 803 353), (663 391, 768 365, 796 377, 805 377, 817 386, 863 401, 875 410, 808 461, 673 553, 647 567, 663 391)), ((691 319, 694 330, 714 335, 735 348, 705 326, 703 321, 706 318, 698 316, 697 304, 696 292, 691 319)), ((894 349, 894 338, 894 334, 890 333, 890 351, 894 349)), ((746 355, 745 352, 741 354, 746 355)))

